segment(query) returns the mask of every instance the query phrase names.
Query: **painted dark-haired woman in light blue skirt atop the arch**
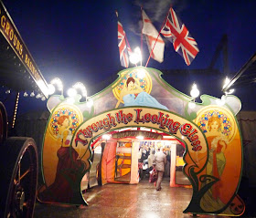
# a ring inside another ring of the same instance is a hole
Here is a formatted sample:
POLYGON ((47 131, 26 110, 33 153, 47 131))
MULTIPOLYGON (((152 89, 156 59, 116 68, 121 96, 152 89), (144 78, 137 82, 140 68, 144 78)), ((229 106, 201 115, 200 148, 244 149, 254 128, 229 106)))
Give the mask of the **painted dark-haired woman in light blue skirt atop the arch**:
POLYGON ((154 97, 149 95, 141 88, 134 78, 127 78, 126 84, 123 87, 120 97, 116 103, 115 108, 118 108, 121 102, 124 102, 124 107, 129 106, 147 106, 158 109, 166 109, 164 105, 160 104, 154 97), (135 94, 138 94, 137 97, 135 94))

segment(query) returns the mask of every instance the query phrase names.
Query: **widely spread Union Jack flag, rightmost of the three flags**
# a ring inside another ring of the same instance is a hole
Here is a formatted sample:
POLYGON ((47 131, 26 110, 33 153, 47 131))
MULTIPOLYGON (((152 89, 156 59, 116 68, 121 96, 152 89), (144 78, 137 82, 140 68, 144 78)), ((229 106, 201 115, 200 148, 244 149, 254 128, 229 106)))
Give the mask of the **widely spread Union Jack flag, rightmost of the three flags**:
POLYGON ((176 16, 172 7, 169 10, 165 26, 161 29, 161 34, 172 41, 176 52, 184 58, 187 66, 189 66, 199 52, 197 42, 176 16))

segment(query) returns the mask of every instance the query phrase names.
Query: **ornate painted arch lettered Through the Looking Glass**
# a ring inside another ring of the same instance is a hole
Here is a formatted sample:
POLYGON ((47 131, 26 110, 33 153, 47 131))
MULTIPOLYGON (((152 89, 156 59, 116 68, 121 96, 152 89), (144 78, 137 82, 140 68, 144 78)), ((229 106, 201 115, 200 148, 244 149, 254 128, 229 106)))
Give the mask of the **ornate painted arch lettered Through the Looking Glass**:
POLYGON ((184 213, 237 216, 244 212, 237 195, 242 169, 240 129, 235 118, 239 99, 226 96, 219 106, 220 99, 203 95, 202 103, 189 108, 190 97, 168 85, 160 71, 144 67, 123 70, 116 81, 91 99, 92 107, 80 102, 79 96, 74 104, 61 96, 48 99, 51 116, 42 149, 46 187, 39 190, 39 201, 87 204, 80 193, 80 181, 90 170, 91 141, 123 127, 146 127, 186 144, 183 171, 192 184, 193 196, 184 213), (62 168, 59 157, 65 158, 62 168), (68 190, 63 199, 59 197, 61 190, 55 190, 60 187, 59 178, 68 190), (50 197, 52 193, 55 199, 50 197))

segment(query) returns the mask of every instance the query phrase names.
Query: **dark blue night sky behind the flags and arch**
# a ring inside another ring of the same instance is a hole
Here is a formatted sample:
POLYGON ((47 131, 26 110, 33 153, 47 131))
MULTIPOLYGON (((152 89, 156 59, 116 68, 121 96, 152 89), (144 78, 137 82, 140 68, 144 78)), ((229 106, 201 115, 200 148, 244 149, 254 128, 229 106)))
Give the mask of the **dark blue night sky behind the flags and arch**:
MULTIPOLYGON (((81 81, 88 87, 89 95, 94 94, 91 86, 123 69, 117 47, 115 9, 119 11, 120 21, 132 48, 140 46, 141 3, 157 30, 162 26, 172 3, 177 16, 197 40, 200 51, 189 67, 170 43, 165 45, 164 62, 159 64, 151 59, 148 67, 160 70, 206 68, 221 37, 227 34, 231 78, 256 50, 256 1, 3 2, 46 80, 49 82, 59 77, 64 80, 66 89, 81 81)), ((148 56, 144 44, 144 63, 148 56)), ((220 61, 217 66, 222 70, 220 61)), ((197 83, 200 86, 199 79, 197 83)), ((210 90, 207 91, 210 94, 210 90)))

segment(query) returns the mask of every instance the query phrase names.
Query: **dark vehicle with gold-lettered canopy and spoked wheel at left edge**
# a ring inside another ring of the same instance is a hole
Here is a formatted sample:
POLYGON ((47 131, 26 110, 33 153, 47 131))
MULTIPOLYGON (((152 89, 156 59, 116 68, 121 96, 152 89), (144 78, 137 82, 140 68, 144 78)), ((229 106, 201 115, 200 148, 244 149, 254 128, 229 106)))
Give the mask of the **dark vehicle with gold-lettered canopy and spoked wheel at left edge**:
POLYGON ((48 84, 1 1, 0 33, 0 85, 16 93, 15 108, 7 111, 13 113, 12 121, 8 122, 0 102, 0 217, 31 218, 37 192, 37 146, 31 138, 8 137, 7 130, 15 125, 19 93, 36 91, 48 98, 48 84))

